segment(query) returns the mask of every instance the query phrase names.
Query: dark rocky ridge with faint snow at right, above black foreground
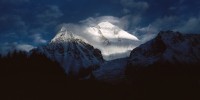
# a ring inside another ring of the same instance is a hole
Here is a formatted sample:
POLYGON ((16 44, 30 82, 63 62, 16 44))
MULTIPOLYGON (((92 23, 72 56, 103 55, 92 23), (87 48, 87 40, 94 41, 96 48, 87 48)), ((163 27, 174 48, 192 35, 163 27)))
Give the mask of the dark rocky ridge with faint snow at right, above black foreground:
POLYGON ((135 48, 129 57, 131 66, 156 62, 194 64, 200 62, 200 35, 160 32, 153 40, 135 48))

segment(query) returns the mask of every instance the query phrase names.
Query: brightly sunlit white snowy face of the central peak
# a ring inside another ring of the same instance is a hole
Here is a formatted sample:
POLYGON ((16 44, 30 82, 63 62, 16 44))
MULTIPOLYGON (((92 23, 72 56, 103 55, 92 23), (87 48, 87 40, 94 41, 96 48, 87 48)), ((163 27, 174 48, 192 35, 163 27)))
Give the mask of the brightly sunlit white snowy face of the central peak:
POLYGON ((106 60, 128 57, 130 51, 139 44, 137 37, 109 22, 89 27, 87 32, 94 37, 91 44, 102 51, 106 60))

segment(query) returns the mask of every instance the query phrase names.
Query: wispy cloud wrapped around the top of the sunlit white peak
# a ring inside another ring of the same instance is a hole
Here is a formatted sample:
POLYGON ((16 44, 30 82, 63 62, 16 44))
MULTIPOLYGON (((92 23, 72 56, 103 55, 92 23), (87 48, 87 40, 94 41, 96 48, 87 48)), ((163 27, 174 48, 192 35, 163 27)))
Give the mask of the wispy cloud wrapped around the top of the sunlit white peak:
MULTIPOLYGON (((163 20, 166 20, 164 18, 163 20)), ((86 31, 87 27, 95 27, 100 22, 110 22, 121 29, 128 31, 129 33, 137 36, 140 39, 141 43, 144 43, 153 37, 156 36, 156 34, 159 32, 158 28, 161 27, 161 19, 158 21, 156 20, 154 22, 154 25, 148 25, 144 27, 138 27, 138 25, 141 23, 142 17, 141 16, 123 16, 123 17, 114 17, 114 16, 100 16, 100 17, 89 17, 85 20, 81 20, 78 24, 68 23, 64 24, 64 27, 67 27, 68 31, 78 33, 78 36, 84 37, 82 38, 85 41, 89 40, 91 42, 91 37, 89 34, 84 33, 86 31), (131 31, 129 30, 131 29, 131 31)), ((167 21, 166 21, 167 22, 167 21)), ((62 27, 63 25, 60 25, 59 27, 62 27)), ((79 38, 81 38, 79 37, 79 38)), ((94 41, 95 43, 95 41, 94 41)), ((139 43, 139 44, 141 44, 139 43)))

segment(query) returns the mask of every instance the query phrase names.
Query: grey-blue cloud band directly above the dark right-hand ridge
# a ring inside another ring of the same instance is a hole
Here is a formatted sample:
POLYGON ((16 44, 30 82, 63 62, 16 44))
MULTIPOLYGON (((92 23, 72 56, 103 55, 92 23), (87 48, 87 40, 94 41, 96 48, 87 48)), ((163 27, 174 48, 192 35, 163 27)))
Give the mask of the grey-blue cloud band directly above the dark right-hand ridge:
POLYGON ((165 16, 156 19, 151 23, 151 27, 157 32, 162 30, 180 31, 182 33, 199 33, 200 17, 190 17, 183 20, 178 16, 165 16))

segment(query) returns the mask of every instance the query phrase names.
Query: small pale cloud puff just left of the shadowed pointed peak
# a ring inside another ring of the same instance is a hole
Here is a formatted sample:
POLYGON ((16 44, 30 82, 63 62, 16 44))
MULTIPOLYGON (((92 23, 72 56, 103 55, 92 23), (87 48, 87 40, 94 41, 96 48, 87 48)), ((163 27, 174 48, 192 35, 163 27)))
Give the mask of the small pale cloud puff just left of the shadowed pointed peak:
POLYGON ((35 44, 44 44, 47 43, 47 40, 42 38, 41 34, 34 34, 32 35, 33 41, 35 42, 35 44))

